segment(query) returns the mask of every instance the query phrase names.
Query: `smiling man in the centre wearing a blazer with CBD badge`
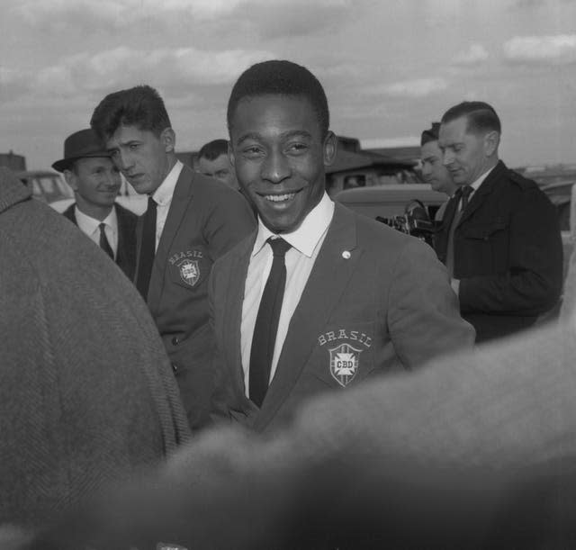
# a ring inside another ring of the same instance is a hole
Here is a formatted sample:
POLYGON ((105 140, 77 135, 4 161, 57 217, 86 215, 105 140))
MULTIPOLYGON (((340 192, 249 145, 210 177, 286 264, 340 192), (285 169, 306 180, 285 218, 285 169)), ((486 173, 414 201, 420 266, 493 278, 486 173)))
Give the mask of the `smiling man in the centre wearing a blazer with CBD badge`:
POLYGON ((308 69, 248 68, 232 89, 228 124, 258 228, 212 270, 224 365, 216 412, 275 429, 312 395, 472 346, 432 249, 326 194, 337 140, 308 69))

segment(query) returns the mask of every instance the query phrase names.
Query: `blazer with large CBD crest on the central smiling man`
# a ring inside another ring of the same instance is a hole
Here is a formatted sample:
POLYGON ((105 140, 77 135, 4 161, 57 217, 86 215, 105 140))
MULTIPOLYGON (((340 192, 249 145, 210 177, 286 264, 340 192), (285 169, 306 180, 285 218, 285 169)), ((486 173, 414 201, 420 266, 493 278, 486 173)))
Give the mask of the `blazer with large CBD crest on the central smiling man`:
POLYGON ((375 374, 411 369, 473 345, 473 328, 461 319, 433 249, 336 203, 258 410, 245 395, 240 358, 244 284, 255 239, 256 233, 220 258, 211 275, 214 368, 220 373, 212 400, 216 416, 258 431, 275 429, 320 392, 342 392, 375 374), (348 371, 339 368, 343 359, 348 371))

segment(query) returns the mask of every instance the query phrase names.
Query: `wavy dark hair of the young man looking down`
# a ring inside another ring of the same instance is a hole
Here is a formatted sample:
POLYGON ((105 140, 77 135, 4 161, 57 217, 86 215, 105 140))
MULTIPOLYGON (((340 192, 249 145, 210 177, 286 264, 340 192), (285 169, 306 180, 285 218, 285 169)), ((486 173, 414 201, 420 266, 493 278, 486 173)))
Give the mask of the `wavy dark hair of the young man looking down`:
POLYGON ((104 141, 120 126, 137 126, 159 136, 172 124, 157 91, 151 86, 134 86, 106 95, 94 109, 90 126, 104 141))

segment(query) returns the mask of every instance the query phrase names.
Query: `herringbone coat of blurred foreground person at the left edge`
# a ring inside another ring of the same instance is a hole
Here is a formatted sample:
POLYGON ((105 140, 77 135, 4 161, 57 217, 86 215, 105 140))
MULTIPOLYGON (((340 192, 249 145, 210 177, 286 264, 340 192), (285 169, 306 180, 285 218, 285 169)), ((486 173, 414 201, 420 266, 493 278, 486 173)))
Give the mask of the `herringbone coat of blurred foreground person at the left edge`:
POLYGON ((0 536, 42 525, 187 437, 137 291, 5 168, 0 334, 0 536))

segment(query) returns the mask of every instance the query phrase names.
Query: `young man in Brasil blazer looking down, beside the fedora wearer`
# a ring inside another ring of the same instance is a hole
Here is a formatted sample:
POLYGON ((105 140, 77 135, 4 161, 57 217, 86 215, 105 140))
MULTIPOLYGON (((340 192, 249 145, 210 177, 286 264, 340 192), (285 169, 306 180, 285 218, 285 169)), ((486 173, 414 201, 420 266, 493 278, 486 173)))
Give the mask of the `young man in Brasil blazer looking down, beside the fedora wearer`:
POLYGON ((139 218, 135 283, 176 376, 192 428, 208 422, 214 340, 208 315, 213 262, 254 227, 244 197, 175 156, 175 132, 150 86, 107 95, 92 127, 148 210, 139 218))

